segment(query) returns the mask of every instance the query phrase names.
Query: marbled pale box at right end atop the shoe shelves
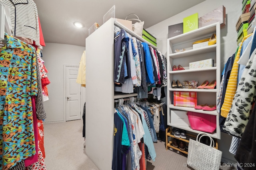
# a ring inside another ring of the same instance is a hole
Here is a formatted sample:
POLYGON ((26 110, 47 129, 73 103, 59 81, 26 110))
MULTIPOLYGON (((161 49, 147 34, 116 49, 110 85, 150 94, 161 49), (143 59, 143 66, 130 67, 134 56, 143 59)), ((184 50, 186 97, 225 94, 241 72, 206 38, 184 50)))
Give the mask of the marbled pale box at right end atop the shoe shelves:
POLYGON ((226 8, 223 5, 198 18, 198 27, 204 27, 216 22, 220 22, 220 27, 226 25, 226 8))

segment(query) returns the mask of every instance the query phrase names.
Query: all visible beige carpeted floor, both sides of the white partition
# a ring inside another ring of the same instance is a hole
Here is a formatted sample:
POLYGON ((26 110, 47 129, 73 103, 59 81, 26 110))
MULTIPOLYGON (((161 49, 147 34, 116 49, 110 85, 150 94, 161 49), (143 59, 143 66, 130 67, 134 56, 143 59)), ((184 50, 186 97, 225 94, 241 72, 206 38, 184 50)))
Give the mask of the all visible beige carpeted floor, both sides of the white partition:
MULTIPOLYGON (((44 147, 47 170, 98 170, 85 154, 82 137, 83 121, 44 123, 44 147)), ((185 167, 186 156, 172 149, 166 150, 165 142, 154 143, 156 160, 147 161, 147 170, 190 170, 185 167)), ((222 170, 234 168, 222 167, 222 170)))

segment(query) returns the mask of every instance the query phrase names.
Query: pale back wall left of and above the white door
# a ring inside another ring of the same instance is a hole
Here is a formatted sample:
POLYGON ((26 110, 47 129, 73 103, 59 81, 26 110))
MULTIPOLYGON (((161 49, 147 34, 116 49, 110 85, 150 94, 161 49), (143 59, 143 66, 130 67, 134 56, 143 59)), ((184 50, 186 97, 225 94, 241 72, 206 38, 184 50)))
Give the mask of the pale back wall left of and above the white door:
POLYGON ((46 47, 43 47, 42 59, 51 82, 47 86, 49 100, 44 102, 46 122, 64 121, 64 64, 79 66, 84 50, 82 46, 58 43, 46 43, 46 47))

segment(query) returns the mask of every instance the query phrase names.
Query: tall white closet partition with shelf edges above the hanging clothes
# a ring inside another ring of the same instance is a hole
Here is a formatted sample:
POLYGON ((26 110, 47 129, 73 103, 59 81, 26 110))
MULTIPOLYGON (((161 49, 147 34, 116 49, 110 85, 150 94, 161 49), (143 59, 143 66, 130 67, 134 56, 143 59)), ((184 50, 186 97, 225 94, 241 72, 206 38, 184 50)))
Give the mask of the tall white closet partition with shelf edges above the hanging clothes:
POLYGON ((86 154, 100 170, 112 167, 114 100, 137 96, 114 93, 115 25, 148 43, 114 18, 86 38, 86 154))

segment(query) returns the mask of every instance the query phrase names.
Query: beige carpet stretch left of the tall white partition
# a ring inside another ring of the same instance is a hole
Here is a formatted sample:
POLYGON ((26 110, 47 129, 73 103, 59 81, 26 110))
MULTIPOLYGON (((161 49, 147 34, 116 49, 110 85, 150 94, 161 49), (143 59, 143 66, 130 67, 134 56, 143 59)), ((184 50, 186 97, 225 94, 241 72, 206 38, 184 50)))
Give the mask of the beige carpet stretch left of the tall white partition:
POLYGON ((83 121, 44 123, 47 170, 98 170, 84 154, 83 121))

